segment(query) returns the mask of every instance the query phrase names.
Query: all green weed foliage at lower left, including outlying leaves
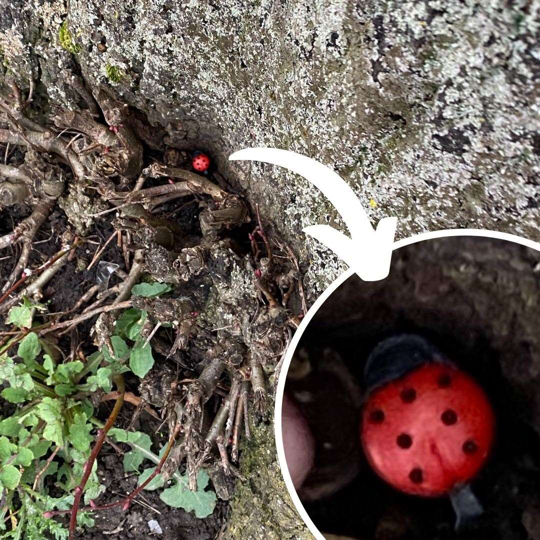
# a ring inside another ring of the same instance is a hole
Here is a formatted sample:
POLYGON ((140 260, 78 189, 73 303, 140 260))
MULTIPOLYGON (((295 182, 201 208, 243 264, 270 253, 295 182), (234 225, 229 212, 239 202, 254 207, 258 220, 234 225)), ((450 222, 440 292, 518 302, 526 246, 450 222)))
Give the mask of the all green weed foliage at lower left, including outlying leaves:
MULTIPOLYGON (((168 291, 168 285, 141 283, 132 293, 152 298, 168 291)), ((93 500, 104 491, 96 474, 96 457, 107 430, 114 440, 131 446, 124 455, 126 471, 139 473, 144 462, 155 464, 140 474, 138 487, 126 497, 125 508, 141 489, 164 488, 160 497, 166 504, 194 511, 197 517, 211 514, 216 496, 205 489, 205 471, 199 474, 195 492, 189 490, 187 477, 179 471, 167 485, 161 477, 161 466, 175 442, 174 436, 156 455, 148 435, 110 429, 122 407, 122 374, 131 369, 144 377, 154 364, 150 342, 141 335, 148 314, 125 309, 110 336, 111 350, 103 346, 83 362, 66 359, 55 342, 40 336, 42 326, 33 319, 46 309, 23 296, 21 305, 12 307, 6 319, 20 332, 0 347, 0 383, 4 385, 0 395, 15 407, 11 416, 0 419, 0 492, 5 500, 0 509, 0 531, 4 531, 0 537, 67 539, 72 538, 76 523, 91 526, 90 511, 100 508, 93 500), (11 357, 8 352, 15 346, 16 354, 11 357), (90 396, 98 389, 110 393, 113 384, 121 397, 104 426, 93 415, 90 396), (51 497, 51 483, 65 495, 51 497), (79 500, 86 505, 80 510, 79 500), (69 529, 51 519, 67 513, 71 514, 69 529)), ((123 501, 105 507, 120 503, 123 501)))

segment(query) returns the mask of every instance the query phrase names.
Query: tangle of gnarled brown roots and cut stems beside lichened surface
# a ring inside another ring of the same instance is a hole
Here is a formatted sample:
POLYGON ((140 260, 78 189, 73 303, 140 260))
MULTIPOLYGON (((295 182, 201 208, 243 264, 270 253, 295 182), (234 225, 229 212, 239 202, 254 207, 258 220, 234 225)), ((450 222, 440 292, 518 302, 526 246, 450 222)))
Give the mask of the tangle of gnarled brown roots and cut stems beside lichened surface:
MULTIPOLYGON (((83 80, 76 83, 85 88, 83 80)), ((96 402, 116 400, 113 421, 125 400, 136 406, 130 426, 146 413, 159 415, 168 426, 166 451, 144 485, 156 474, 168 478, 184 466, 193 490, 201 468, 212 469, 213 478, 216 468, 239 477, 234 463, 241 438, 249 437, 254 421, 267 419, 273 392, 268 377, 307 309, 298 261, 264 224, 258 207, 250 212, 238 193, 226 190, 221 176, 218 185, 212 173, 193 172, 187 152, 147 155, 128 127, 133 125, 129 107, 101 90, 93 96, 86 91, 87 110, 53 109, 49 122, 40 123, 30 108, 32 92, 33 84, 26 97, 13 84, 11 95, 0 99, 0 144, 5 146, 0 211, 7 215, 13 208, 30 208, 28 217, 0 237, 0 249, 15 253, 22 247, 3 276, 0 312, 26 297, 40 302, 58 293, 62 284, 55 275, 66 266, 82 265, 85 253, 91 260, 84 266, 98 273, 113 257, 119 264, 111 266, 110 285, 109 277, 85 280, 70 305, 39 313, 43 322, 32 332, 58 343, 66 359, 85 360, 93 346, 113 354, 111 336, 124 309, 144 310, 141 336, 152 347, 156 365, 138 381, 138 392, 127 392, 118 381, 116 392, 98 391, 96 402), (186 202, 174 208, 177 199, 186 202), (62 230, 48 225, 58 205, 68 222, 62 230), (185 217, 179 219, 179 212, 185 217), (93 231, 111 217, 112 232, 96 242, 93 231), (49 227, 47 241, 60 237, 62 248, 40 255, 38 235, 49 227), (171 287, 164 296, 132 295, 141 281, 171 287), (85 337, 89 329, 93 343, 85 337)), ((15 345, 28 332, 8 328, 2 345, 8 338, 15 345)), ((106 431, 98 431, 92 461, 110 441, 106 431)), ((89 474, 91 463, 85 467, 89 474)), ((86 469, 73 492, 73 508, 48 512, 71 513, 71 535, 86 469)), ((141 489, 84 509, 127 508, 141 489)))

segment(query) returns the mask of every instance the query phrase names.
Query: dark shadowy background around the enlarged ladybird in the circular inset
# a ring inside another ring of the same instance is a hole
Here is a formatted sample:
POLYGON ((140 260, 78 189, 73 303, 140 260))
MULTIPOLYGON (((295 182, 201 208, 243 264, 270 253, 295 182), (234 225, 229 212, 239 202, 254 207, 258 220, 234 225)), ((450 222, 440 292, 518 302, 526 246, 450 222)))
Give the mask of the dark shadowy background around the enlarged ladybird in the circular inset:
POLYGON ((540 538, 534 519, 540 501, 537 262, 535 251, 510 242, 420 242, 394 253, 386 280, 370 284, 350 278, 327 300, 299 345, 308 360, 293 362, 286 387, 317 442, 315 468, 300 496, 322 532, 361 540, 540 538), (496 445, 473 482, 485 512, 460 534, 448 498, 404 495, 375 475, 361 449, 360 408, 340 406, 341 394, 354 401, 350 393, 356 390, 347 387, 347 379, 362 392, 363 367, 373 347, 409 332, 425 336, 471 373, 496 411, 496 445), (346 376, 339 370, 337 390, 328 386, 329 350, 348 370, 346 376), (332 467, 335 492, 317 497, 327 490, 324 473, 332 467), (352 481, 347 468, 357 471, 352 481))

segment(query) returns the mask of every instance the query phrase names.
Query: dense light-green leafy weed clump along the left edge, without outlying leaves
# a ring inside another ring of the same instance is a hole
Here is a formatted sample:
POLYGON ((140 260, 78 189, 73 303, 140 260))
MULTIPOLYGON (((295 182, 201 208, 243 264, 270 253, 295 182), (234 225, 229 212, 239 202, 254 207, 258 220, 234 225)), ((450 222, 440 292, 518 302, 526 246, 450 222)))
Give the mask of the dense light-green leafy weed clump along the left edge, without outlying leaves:
MULTIPOLYGON (((86 364, 64 361, 56 345, 31 331, 33 314, 44 309, 28 299, 12 308, 8 321, 28 333, 19 341, 15 358, 7 353, 13 343, 0 349, 0 382, 5 385, 0 395, 16 406, 14 414, 0 420, 0 489, 6 501, 0 529, 6 529, 6 520, 11 522, 5 538, 23 538, 23 531, 24 538, 44 538, 45 532, 68 537, 68 530, 43 518, 43 512, 73 502, 70 491, 90 456, 92 431, 101 424, 93 416, 89 395, 98 387, 110 389, 114 374, 127 369, 114 364, 100 368, 100 352, 90 355, 86 364), (58 461, 52 461, 54 457, 58 461), (66 497, 49 497, 44 480, 50 475, 66 497)), ((84 497, 91 500, 103 490, 93 467, 84 497)), ((93 523, 84 512, 78 522, 93 523)))

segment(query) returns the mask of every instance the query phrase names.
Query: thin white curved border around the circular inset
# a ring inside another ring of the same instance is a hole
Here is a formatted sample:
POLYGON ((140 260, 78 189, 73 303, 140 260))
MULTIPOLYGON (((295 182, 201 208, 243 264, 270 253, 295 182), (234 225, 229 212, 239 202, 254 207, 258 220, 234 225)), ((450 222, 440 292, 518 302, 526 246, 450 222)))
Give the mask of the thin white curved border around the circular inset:
MULTIPOLYGON (((529 247, 531 249, 535 249, 536 251, 540 252, 540 243, 535 242, 533 240, 529 240, 528 238, 519 237, 516 234, 510 234, 510 233, 503 233, 498 231, 490 231, 487 229, 443 229, 441 231, 432 231, 432 232, 426 232, 426 233, 420 233, 420 234, 414 234, 411 237, 404 238, 402 240, 398 240, 394 242, 392 251, 395 249, 399 249, 400 247, 409 246, 411 244, 416 244, 417 242, 422 242, 424 240, 433 240, 434 238, 445 238, 445 237, 484 237, 484 238, 496 238, 498 240, 506 240, 508 242, 514 242, 515 244, 521 244, 522 246, 529 247)), ((369 257, 369 254, 367 254, 369 257)), ((302 319, 302 322, 300 323, 298 329, 296 329, 296 332, 294 333, 293 339, 291 340, 291 343, 289 343, 289 346, 287 348, 287 352, 285 354, 284 362, 281 366, 281 373, 278 380, 278 387, 276 389, 276 395, 275 395, 275 408, 274 408, 274 435, 275 435, 275 443, 276 443, 276 450, 278 452, 278 462, 279 466, 281 468, 281 473, 283 475, 283 478, 285 480, 285 485, 287 486, 287 491, 289 492, 289 495, 291 496, 294 506, 296 507, 296 510, 298 510, 298 513, 300 514, 300 517, 303 519, 303 521, 306 523, 307 528, 309 529, 309 532, 317 539, 317 540, 326 540, 324 536, 322 536, 319 529, 315 527, 315 524, 311 520, 311 518, 308 516, 305 508, 303 507, 300 498, 298 494, 296 494, 296 490, 293 486, 293 481, 291 478, 291 475, 289 474, 289 470, 287 469, 287 462, 285 460, 285 450, 283 447, 283 438, 281 436, 281 405, 283 402, 283 393, 285 389, 285 380, 286 375, 289 369, 289 365, 291 364, 291 360, 294 354, 294 351, 296 350, 296 347, 298 347, 298 343, 300 341, 300 338, 302 337, 302 334, 305 332, 307 326, 309 325, 309 321, 313 319, 313 316, 316 312, 319 311, 319 308, 323 305, 323 303, 326 302, 326 300, 329 298, 329 296, 347 279, 350 278, 354 274, 354 270, 348 269, 345 272, 343 272, 336 280, 334 280, 326 289, 325 291, 319 296, 319 298, 313 303, 313 306, 309 308, 306 316, 302 319)))

